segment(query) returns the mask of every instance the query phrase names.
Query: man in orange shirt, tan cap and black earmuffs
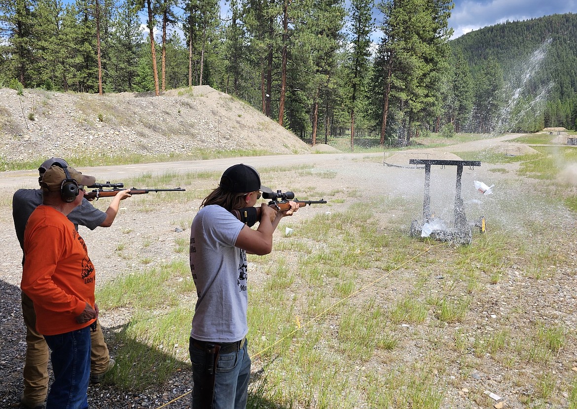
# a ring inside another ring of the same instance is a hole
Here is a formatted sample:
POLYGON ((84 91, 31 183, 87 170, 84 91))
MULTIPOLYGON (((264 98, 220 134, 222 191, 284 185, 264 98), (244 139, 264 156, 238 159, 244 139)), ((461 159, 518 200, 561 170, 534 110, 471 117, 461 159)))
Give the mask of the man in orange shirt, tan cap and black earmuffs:
POLYGON ((43 202, 24 233, 21 289, 36 311, 36 329, 51 350, 54 383, 47 409, 87 409, 91 325, 98 318, 95 270, 84 240, 66 217, 92 176, 53 165, 42 178, 43 202))

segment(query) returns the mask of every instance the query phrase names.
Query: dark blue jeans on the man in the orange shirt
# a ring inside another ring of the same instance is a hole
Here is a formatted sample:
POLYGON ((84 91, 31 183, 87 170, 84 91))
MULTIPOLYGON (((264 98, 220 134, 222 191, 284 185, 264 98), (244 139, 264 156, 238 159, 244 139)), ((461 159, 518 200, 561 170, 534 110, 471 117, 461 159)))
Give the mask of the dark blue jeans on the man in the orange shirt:
POLYGON ((88 409, 90 327, 65 334, 44 335, 50 347, 54 382, 46 409, 88 409))

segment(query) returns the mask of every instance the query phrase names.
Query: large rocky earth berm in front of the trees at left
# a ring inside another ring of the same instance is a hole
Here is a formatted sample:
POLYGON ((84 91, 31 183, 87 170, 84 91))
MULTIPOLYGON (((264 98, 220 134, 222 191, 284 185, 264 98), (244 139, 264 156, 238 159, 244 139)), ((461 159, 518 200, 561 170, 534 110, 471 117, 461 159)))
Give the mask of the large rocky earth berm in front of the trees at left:
MULTIPOLYGON (((75 94, 0 89, 0 165, 49 156, 309 153, 294 134, 209 86, 148 93, 75 94)), ((6 169, 6 166, 5 166, 6 169)), ((0 170, 2 167, 0 166, 0 170)))

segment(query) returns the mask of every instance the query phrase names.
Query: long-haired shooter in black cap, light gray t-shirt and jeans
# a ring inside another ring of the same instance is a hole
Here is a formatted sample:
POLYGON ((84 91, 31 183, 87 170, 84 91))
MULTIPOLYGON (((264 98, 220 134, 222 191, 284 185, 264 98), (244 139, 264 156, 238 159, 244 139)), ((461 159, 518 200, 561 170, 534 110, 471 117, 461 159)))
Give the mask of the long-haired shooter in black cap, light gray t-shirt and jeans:
POLYGON ((190 228, 190 271, 198 296, 189 345, 193 409, 246 407, 250 376, 246 253, 270 253, 280 219, 298 209, 294 202, 286 211, 277 212, 266 203, 256 209, 263 191, 272 193, 261 185, 256 169, 231 166, 219 187, 203 200, 190 228), (253 222, 260 219, 258 228, 244 224, 233 210, 246 211, 253 222))

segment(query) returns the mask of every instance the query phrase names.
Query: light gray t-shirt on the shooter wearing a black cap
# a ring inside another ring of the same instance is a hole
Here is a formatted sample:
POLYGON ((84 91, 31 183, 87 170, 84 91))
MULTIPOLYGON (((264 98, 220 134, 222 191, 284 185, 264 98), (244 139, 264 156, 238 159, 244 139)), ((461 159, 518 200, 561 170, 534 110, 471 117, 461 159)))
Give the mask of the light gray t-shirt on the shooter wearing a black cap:
POLYGON ((235 342, 248 334, 246 251, 234 247, 245 225, 216 204, 198 211, 190 228, 190 271, 198 300, 190 336, 235 342))

